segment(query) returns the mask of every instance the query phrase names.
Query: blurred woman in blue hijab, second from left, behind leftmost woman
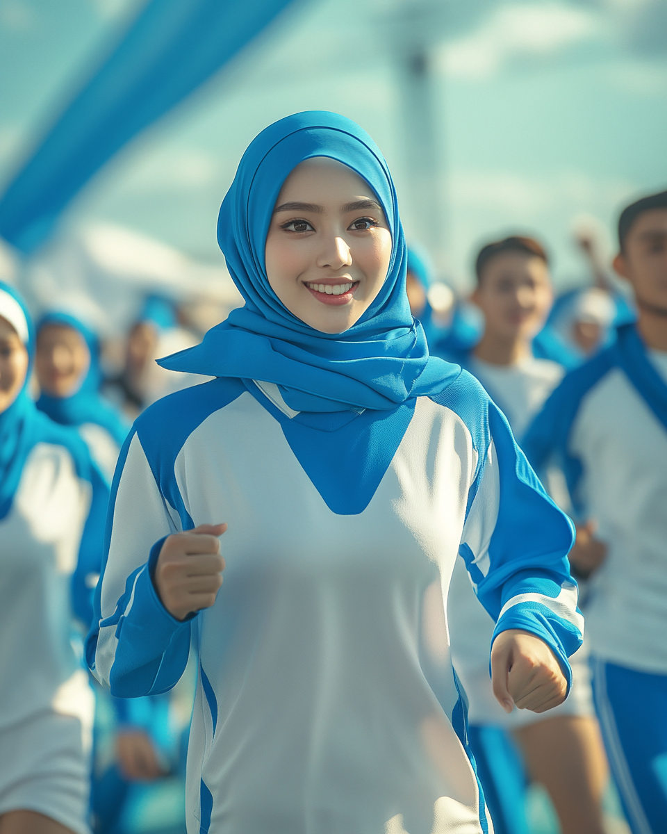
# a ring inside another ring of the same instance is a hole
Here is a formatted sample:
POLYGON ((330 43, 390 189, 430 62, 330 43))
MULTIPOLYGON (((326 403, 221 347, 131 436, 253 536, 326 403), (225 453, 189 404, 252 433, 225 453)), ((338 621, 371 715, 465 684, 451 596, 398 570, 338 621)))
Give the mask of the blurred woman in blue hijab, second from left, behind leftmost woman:
POLYGON ((35 369, 42 394, 37 407, 56 423, 78 428, 111 483, 128 426, 99 393, 99 354, 97 335, 73 315, 54 311, 39 322, 35 369))

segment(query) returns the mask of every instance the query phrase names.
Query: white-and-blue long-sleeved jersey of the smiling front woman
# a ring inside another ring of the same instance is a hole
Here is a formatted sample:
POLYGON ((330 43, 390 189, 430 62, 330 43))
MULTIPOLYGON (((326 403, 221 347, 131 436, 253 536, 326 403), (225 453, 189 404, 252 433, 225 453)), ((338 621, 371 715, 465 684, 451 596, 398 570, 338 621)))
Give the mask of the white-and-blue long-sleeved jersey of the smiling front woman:
POLYGON ((372 490, 336 473, 387 412, 313 428, 278 386, 218 378, 137 420, 87 657, 115 696, 167 691, 194 630, 190 834, 490 830, 444 614, 458 554, 495 633, 539 636, 569 678, 569 520, 469 374, 403 409, 372 490), (222 520, 218 598, 175 620, 152 581, 163 539, 222 520))

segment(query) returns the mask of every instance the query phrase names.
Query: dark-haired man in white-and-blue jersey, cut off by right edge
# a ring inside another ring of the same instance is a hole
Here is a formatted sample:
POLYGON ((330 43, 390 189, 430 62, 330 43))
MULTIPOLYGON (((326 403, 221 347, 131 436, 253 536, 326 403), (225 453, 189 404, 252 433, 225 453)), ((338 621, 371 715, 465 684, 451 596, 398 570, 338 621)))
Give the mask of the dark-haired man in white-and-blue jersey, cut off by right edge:
POLYGON ((595 707, 634 834, 667 831, 667 192, 625 208, 614 269, 636 324, 565 377, 524 437, 558 456, 581 526, 570 561, 591 575, 595 707))

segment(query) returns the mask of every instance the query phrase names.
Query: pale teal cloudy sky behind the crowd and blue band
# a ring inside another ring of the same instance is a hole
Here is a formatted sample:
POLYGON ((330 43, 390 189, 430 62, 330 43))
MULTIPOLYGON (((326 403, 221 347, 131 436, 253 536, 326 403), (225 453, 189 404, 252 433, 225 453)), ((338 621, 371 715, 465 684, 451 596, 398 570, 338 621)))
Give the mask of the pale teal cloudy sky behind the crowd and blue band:
MULTIPOLYGON (((408 196, 396 54, 424 0, 300 0, 202 91, 120 153, 67 224, 112 220, 219 259, 219 203, 255 133, 308 108, 361 123, 408 196), (412 18, 411 18, 412 15, 412 18)), ((0 179, 108 48, 136 0, 0 0, 0 179)), ((572 224, 612 239, 624 203, 667 188, 665 0, 438 0, 434 66, 447 269, 469 283, 474 250, 538 234, 559 284, 584 267, 572 224)), ((404 200, 409 238, 422 215, 404 200)))

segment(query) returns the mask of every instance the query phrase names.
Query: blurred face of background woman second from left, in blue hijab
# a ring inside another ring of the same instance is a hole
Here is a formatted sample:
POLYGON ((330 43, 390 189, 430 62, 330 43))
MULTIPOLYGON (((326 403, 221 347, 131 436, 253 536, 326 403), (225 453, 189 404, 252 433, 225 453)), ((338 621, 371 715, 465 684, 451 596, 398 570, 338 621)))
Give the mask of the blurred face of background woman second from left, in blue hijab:
POLYGON ((81 387, 90 367, 83 336, 67 324, 45 324, 37 337, 35 370, 39 387, 52 397, 69 397, 81 387))

